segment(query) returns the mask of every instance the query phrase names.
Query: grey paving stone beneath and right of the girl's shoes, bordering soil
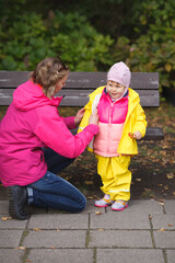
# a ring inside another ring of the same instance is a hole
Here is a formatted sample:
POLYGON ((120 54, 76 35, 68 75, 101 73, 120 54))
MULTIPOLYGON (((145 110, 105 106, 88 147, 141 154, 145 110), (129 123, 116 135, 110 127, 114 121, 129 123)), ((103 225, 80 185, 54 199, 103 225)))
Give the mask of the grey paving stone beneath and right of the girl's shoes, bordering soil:
MULTIPOLYGON (((110 210, 110 207, 107 207, 108 210, 110 210)), ((130 199, 128 208, 120 213, 163 214, 163 207, 160 205, 160 202, 154 199, 130 199)))

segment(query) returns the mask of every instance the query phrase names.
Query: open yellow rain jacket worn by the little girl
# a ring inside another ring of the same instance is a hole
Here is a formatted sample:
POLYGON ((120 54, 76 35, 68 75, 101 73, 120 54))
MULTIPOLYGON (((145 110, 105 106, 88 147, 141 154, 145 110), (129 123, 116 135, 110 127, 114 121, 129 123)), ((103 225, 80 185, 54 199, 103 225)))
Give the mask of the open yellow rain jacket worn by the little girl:
MULTIPOLYGON (((85 113, 80 123, 79 130, 80 133, 89 125, 89 118, 92 114, 92 108, 94 104, 98 104, 97 98, 101 98, 101 94, 104 90, 105 85, 97 88, 94 92, 90 94, 90 101, 84 106, 85 113)), ((118 145, 117 152, 119 155, 129 155, 135 156, 138 155, 138 147, 136 139, 131 139, 129 137, 129 133, 133 134, 135 132, 140 132, 142 137, 145 135, 147 121, 143 108, 140 105, 139 94, 132 89, 128 89, 128 113, 124 125, 122 136, 118 145)), ((95 105, 97 107, 97 105, 95 105)), ((93 147, 88 147, 88 150, 93 151, 93 147)))

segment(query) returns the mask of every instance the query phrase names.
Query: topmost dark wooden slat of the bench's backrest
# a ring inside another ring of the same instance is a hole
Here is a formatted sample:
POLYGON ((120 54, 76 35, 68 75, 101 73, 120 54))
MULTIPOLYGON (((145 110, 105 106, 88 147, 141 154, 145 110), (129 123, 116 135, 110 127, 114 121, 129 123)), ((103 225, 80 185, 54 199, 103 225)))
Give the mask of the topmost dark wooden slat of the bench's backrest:
MULTIPOLYGON (((70 72, 65 89, 96 89, 106 84, 106 72, 70 72)), ((25 82, 30 71, 0 71, 0 88, 16 88, 25 82)), ((132 72, 130 88, 159 90, 159 73, 132 72)))

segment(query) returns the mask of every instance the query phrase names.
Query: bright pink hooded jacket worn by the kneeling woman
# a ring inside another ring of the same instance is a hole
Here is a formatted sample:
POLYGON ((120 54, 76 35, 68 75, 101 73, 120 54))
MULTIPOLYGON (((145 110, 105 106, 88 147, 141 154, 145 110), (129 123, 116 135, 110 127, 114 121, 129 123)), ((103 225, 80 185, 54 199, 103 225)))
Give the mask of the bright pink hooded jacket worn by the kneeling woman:
POLYGON ((0 123, 0 180, 4 186, 27 185, 47 171, 42 147, 67 158, 81 155, 96 125, 73 136, 74 117, 62 118, 58 105, 62 98, 48 99, 40 87, 26 81, 13 93, 13 102, 0 123))

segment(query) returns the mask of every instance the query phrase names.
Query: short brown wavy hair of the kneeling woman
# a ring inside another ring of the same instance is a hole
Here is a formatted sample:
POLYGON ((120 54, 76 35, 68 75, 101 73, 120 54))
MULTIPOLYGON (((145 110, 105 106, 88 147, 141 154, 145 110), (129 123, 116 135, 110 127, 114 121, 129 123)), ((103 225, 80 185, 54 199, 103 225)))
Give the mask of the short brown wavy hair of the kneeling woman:
POLYGON ((56 83, 69 73, 69 68, 59 57, 45 58, 32 72, 34 83, 42 85, 43 92, 50 99, 55 94, 56 83))

